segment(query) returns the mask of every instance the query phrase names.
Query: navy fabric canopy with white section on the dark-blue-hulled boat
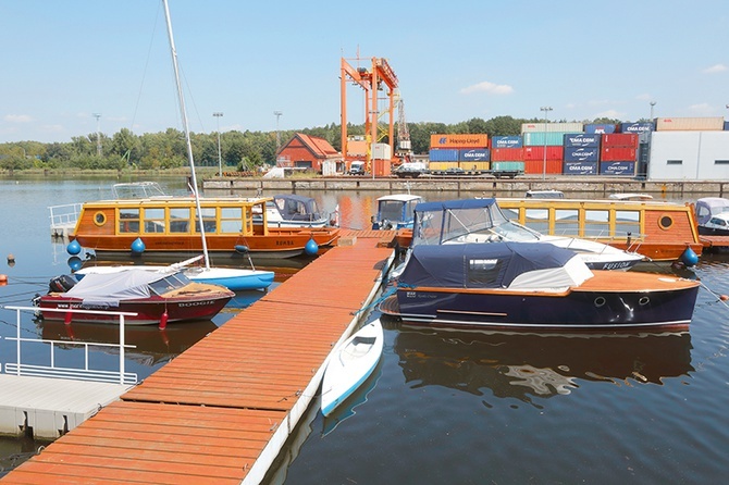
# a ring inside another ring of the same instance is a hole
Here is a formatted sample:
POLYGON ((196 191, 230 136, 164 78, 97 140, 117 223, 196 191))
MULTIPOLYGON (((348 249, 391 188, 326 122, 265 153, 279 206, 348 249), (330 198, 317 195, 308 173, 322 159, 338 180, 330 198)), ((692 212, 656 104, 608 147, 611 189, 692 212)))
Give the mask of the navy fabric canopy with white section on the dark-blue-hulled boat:
POLYGON ((556 290, 592 276, 573 251, 549 244, 421 245, 412 248, 398 285, 556 290))

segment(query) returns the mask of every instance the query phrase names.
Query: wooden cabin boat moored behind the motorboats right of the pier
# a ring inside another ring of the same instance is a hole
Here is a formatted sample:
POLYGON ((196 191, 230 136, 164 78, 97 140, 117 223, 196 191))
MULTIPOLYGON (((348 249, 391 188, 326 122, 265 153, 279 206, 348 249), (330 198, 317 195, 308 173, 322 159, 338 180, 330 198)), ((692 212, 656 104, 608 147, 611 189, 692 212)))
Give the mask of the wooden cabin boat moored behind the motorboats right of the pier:
POLYGON ((542 234, 593 239, 639 252, 652 261, 692 265, 703 249, 690 203, 619 199, 497 201, 508 219, 542 234))

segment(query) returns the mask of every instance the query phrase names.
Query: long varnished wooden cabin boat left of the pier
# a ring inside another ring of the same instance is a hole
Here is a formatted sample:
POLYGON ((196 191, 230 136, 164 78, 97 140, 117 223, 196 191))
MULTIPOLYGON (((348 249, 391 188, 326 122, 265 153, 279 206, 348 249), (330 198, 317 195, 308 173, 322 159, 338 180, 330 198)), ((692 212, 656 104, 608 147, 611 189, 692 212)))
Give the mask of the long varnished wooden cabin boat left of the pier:
MULTIPOLYGON (((212 257, 291 258, 316 254, 336 242, 338 227, 270 227, 271 198, 201 198, 202 228, 212 257), (263 224, 255 224, 254 213, 263 224)), ((115 198, 85 202, 67 251, 92 250, 103 259, 156 254, 183 259, 203 252, 194 197, 115 198)))

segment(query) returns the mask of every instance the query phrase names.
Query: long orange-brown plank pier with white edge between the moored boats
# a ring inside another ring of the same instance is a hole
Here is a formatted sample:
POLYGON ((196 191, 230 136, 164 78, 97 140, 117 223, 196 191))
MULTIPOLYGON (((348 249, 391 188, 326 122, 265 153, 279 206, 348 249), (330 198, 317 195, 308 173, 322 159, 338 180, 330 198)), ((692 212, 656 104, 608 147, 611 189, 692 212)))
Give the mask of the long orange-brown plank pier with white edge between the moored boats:
POLYGON ((347 232, 3 485, 260 483, 376 295, 394 234, 347 232))

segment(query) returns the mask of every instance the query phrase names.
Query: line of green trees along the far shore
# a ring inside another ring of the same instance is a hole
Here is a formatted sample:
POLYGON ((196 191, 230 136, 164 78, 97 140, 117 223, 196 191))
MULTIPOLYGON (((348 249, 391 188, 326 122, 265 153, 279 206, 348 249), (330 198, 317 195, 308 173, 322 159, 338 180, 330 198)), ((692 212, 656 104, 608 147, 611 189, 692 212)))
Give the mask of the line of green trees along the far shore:
MULTIPOLYGON (((510 136, 521 133, 523 123, 539 123, 539 119, 496 116, 479 117, 457 124, 408 123, 410 145, 415 153, 428 153, 431 134, 486 134, 510 136)), ((585 123, 619 123, 597 119, 585 123)), ((282 147, 296 133, 324 138, 337 151, 342 150, 342 126, 279 132, 282 147)), ((396 130, 397 133, 397 130, 396 130)), ((364 135, 363 125, 347 125, 348 135, 364 135)), ((190 133, 196 166, 219 166, 218 133, 190 133)), ((390 140, 383 139, 382 142, 390 140)), ((395 140, 397 142, 397 140, 395 140)), ((276 160, 275 132, 238 132, 220 134, 220 164, 225 171, 252 171, 263 165, 274 165, 276 160)), ((175 128, 161 133, 135 135, 122 128, 111 137, 91 133, 73 137, 70 142, 16 141, 0 144, 0 169, 81 169, 81 170, 164 170, 188 165, 185 135, 175 128)))

